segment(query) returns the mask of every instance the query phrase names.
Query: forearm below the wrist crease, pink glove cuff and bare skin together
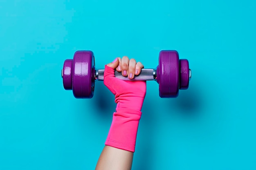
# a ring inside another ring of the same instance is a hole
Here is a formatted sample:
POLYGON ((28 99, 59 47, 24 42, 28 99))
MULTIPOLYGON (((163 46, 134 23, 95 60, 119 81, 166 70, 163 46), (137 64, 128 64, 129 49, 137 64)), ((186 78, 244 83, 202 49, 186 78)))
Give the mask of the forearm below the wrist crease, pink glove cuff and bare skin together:
POLYGON ((130 170, 140 115, 115 112, 96 170, 130 170))

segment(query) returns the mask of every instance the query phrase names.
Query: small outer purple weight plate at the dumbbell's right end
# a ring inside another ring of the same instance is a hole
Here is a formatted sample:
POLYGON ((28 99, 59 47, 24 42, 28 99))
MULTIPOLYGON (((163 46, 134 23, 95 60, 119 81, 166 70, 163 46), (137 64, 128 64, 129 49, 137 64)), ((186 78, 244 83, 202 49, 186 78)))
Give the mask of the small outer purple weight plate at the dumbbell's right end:
POLYGON ((180 60, 180 90, 189 88, 189 61, 180 60))

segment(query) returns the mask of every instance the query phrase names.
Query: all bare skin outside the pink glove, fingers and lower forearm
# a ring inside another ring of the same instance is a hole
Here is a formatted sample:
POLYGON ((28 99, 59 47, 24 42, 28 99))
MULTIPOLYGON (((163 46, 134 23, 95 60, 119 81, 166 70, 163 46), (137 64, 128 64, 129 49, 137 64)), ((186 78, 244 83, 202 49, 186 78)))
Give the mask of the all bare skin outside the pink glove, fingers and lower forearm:
MULTIPOLYGON (((141 69, 144 66, 141 62, 136 62, 134 59, 130 59, 126 56, 118 57, 118 62, 109 63, 110 66, 116 69, 118 72, 122 72, 123 76, 133 79, 135 75, 139 75, 141 69)), ((131 170, 132 168, 133 152, 114 148, 111 146, 105 146, 99 157, 95 170, 131 170)))

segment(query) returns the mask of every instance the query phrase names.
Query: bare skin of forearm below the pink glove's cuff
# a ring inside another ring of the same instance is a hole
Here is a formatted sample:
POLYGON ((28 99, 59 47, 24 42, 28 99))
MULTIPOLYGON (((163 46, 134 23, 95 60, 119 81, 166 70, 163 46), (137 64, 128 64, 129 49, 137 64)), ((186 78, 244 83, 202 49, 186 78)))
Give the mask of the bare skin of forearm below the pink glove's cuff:
POLYGON ((130 170, 133 152, 105 146, 95 170, 130 170))

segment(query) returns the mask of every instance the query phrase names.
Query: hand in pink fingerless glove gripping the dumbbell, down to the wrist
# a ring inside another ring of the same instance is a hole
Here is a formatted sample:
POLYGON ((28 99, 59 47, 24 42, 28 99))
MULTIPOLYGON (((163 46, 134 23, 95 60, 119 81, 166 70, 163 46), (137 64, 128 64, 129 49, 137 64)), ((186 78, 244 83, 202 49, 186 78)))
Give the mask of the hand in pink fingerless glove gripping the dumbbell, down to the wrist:
POLYGON ((126 76, 128 72, 130 74, 129 79, 132 79, 134 75, 139 75, 144 66, 140 62, 136 63, 134 59, 129 61, 128 57, 123 57, 120 61, 117 58, 105 66, 104 84, 115 95, 117 108, 141 111, 146 95, 146 81, 124 81, 118 79, 115 77, 115 69, 122 71, 123 76, 126 76), (137 101, 137 103, 134 101, 137 101))

